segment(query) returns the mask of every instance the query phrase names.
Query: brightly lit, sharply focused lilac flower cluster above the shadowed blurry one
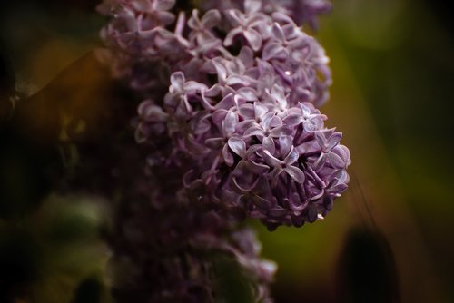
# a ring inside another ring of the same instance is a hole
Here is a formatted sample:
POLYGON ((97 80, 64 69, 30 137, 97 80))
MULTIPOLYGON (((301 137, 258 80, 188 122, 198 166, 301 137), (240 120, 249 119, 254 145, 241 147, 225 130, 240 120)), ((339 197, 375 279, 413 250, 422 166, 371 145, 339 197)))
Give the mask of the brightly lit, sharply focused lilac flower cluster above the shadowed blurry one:
POLYGON ((350 152, 318 110, 331 84, 328 58, 285 7, 299 4, 306 15, 295 14, 311 22, 327 5, 216 3, 186 20, 170 13, 173 0, 104 2, 114 17, 104 41, 119 53, 117 66, 129 67, 117 73, 142 83, 146 98, 137 138, 172 139, 160 161, 180 167, 194 202, 243 211, 270 229, 321 219, 347 188, 350 152))

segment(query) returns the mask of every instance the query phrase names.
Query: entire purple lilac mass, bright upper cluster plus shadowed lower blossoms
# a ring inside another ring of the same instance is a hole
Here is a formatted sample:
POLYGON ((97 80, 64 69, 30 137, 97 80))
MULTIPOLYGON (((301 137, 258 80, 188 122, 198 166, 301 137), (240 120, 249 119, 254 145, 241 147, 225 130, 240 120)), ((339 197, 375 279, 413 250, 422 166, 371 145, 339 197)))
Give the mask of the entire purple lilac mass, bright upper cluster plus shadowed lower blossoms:
POLYGON ((247 277, 252 301, 271 302, 276 265, 260 259, 242 220, 300 227, 324 218, 349 182, 350 152, 319 110, 329 59, 301 28, 316 27, 330 3, 208 0, 197 8, 174 0, 98 7, 111 17, 100 58, 143 99, 133 127, 148 151, 136 189, 115 211, 119 302, 229 301, 217 274, 226 258, 247 277))

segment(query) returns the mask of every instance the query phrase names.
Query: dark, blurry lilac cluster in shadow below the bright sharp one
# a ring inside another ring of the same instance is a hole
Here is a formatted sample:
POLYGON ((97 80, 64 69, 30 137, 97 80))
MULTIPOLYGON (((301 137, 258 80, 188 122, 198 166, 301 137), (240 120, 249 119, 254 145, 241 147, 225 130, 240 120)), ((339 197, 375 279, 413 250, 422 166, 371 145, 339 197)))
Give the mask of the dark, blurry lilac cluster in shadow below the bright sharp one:
POLYGON ((261 246, 252 230, 239 230, 188 200, 159 198, 173 200, 136 197, 116 211, 108 266, 115 302, 222 300, 220 258, 237 264, 254 302, 271 302, 268 285, 276 265, 259 259, 261 246))

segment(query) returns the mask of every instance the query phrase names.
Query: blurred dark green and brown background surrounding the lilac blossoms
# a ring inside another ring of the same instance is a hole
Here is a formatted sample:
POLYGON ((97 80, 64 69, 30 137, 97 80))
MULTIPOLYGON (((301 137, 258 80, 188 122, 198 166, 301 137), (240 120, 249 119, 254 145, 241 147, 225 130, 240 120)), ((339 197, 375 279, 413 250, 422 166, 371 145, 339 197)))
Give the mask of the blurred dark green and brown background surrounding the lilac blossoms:
MULTIPOLYGON (((59 202, 62 172, 52 169, 80 160, 70 143, 54 149, 65 131, 103 124, 101 72, 74 69, 93 67, 80 58, 99 45, 96 4, 0 5, 1 302, 10 291, 35 294, 17 302, 105 296, 102 203, 59 202), (11 122, 18 97, 31 101, 11 122)), ((269 232, 252 222, 264 257, 279 265, 276 302, 454 301, 451 12, 441 0, 336 0, 321 17, 316 36, 334 74, 321 111, 350 148, 350 189, 316 224, 269 232)))

